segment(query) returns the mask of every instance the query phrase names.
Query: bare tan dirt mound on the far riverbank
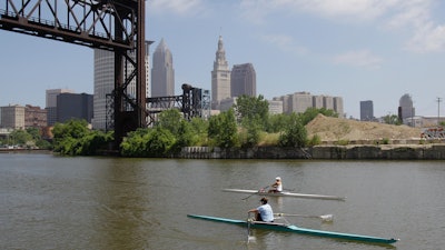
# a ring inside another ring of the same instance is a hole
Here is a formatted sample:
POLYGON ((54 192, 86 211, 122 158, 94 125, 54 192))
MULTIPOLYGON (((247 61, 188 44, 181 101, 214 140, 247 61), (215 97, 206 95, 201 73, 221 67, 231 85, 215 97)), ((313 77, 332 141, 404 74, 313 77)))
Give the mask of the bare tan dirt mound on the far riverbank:
POLYGON ((421 137, 421 130, 407 126, 365 122, 318 114, 307 126, 308 137, 318 134, 322 141, 404 140, 421 137))

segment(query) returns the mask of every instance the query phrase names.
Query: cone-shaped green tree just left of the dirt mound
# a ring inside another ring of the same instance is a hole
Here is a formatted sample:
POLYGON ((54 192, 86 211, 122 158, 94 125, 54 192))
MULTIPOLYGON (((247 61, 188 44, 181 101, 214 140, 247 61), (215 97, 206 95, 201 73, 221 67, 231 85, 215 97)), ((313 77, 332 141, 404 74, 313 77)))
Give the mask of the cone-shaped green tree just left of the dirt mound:
POLYGON ((279 136, 279 144, 283 147, 303 148, 307 143, 307 131, 301 118, 296 113, 290 114, 290 122, 279 136))

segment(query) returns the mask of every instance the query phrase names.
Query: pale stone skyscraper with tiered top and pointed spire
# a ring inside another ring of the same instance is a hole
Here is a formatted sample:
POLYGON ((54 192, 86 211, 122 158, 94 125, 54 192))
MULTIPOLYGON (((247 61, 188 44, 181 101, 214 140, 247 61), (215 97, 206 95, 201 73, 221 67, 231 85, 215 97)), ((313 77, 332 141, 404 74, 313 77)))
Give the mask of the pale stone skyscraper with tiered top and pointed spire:
POLYGON ((222 37, 219 36, 218 50, 211 71, 211 109, 218 109, 219 102, 230 98, 230 70, 226 60, 222 37))

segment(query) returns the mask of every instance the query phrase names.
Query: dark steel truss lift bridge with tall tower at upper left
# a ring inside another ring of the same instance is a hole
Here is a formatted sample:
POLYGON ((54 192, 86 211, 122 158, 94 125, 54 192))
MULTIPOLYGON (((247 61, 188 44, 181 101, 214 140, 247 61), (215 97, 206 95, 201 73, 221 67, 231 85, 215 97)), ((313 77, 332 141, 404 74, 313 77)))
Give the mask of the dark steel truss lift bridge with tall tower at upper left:
MULTIPOLYGON (((145 8, 145 0, 0 0, 0 29, 115 52, 110 124, 118 149, 127 132, 149 126, 155 118, 146 99, 145 8), (125 70, 128 63, 132 71, 125 70), (127 92, 130 82, 136 82, 136 94, 127 92)), ((190 92, 185 90, 179 101, 192 100, 188 97, 196 89, 186 89, 190 92)), ((156 100, 149 101, 159 110, 156 100)), ((185 117, 198 113, 190 103, 182 103, 185 117)))

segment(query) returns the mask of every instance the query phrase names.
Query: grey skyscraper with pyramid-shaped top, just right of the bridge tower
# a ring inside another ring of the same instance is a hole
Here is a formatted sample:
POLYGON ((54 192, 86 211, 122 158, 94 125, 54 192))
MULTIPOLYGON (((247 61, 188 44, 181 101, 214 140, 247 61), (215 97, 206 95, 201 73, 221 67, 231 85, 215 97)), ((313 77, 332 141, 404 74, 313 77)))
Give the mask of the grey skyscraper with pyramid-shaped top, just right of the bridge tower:
POLYGON ((174 59, 162 38, 154 52, 151 97, 170 96, 175 96, 174 59))

